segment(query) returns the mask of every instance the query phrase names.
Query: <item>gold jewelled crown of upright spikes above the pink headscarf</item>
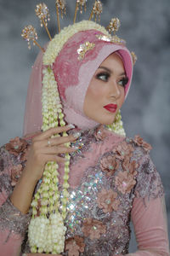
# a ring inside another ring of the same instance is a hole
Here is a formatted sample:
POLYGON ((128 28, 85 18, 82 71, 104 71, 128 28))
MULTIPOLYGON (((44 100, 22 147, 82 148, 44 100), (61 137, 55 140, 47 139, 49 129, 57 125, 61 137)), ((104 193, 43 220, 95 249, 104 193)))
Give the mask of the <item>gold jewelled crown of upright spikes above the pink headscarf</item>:
MULTIPOLYGON (((77 0, 76 3, 76 9, 73 19, 73 24, 76 23, 77 20, 77 12, 80 10, 80 13, 82 14, 83 8, 86 12, 86 3, 88 0, 77 0)), ((56 14, 57 14, 57 21, 58 21, 58 31, 60 32, 60 20, 59 20, 59 11, 60 16, 63 19, 63 15, 66 14, 66 3, 65 0, 55 0, 55 7, 56 7, 56 14)), ((102 14, 103 7, 102 3, 99 0, 94 0, 93 9, 91 11, 91 14, 89 16, 88 20, 92 20, 94 18, 94 21, 97 22, 97 20, 100 21, 100 15, 102 14)), ((37 4, 37 7, 35 9, 37 17, 40 19, 41 26, 44 26, 46 31, 48 32, 48 38, 52 40, 52 37, 50 35, 50 32, 48 31, 48 21, 50 20, 49 10, 45 3, 39 3, 37 4)), ((113 36, 106 36, 106 35, 100 35, 99 40, 104 40, 107 42, 112 42, 115 44, 126 44, 125 40, 122 38, 118 38, 116 36, 116 32, 118 31, 119 27, 121 26, 121 22, 118 18, 111 19, 109 26, 106 27, 108 32, 110 34, 113 33, 113 36)), ((45 49, 41 47, 40 44, 37 43, 37 32, 36 29, 29 25, 25 26, 25 28, 22 30, 21 37, 24 38, 28 44, 28 48, 31 49, 31 42, 33 45, 37 45, 43 52, 45 52, 45 49)), ((134 52, 131 53, 133 58, 133 64, 137 60, 137 56, 134 54, 134 52)))

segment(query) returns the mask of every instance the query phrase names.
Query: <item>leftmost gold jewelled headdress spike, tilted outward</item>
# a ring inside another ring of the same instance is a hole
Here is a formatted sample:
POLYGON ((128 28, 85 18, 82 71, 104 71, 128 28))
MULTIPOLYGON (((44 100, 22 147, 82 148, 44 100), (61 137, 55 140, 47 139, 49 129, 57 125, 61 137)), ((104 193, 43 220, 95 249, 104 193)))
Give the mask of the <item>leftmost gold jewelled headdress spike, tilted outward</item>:
POLYGON ((25 28, 22 30, 21 37, 25 39, 26 42, 28 43, 28 49, 31 49, 31 41, 32 41, 33 45, 36 44, 42 50, 42 52, 45 52, 45 49, 43 49, 40 46, 40 44, 37 43, 37 32, 33 26, 31 25, 25 26, 25 28))

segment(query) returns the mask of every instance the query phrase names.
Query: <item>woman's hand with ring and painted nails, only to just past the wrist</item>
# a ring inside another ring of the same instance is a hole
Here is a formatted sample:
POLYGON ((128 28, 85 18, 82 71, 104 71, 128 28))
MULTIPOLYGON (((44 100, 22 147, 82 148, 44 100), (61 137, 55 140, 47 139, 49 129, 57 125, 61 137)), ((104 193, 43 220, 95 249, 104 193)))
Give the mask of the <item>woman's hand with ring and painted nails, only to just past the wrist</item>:
POLYGON ((51 128, 32 139, 24 170, 32 181, 37 182, 42 177, 44 166, 48 161, 65 162, 65 159, 60 157, 59 154, 71 153, 77 149, 66 147, 65 143, 71 143, 76 140, 80 136, 78 133, 75 133, 74 136, 51 138, 60 132, 69 131, 71 128, 71 125, 51 128))

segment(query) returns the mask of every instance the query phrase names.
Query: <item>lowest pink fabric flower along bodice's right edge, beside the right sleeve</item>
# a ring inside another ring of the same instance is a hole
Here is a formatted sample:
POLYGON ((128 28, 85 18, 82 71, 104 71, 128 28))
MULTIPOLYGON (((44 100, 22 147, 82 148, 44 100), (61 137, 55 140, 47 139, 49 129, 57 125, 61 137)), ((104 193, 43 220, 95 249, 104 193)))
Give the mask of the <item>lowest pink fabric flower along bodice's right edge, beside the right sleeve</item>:
POLYGON ((136 181, 133 175, 129 172, 119 172, 116 176, 116 187, 122 194, 130 193, 131 189, 135 185, 136 181))

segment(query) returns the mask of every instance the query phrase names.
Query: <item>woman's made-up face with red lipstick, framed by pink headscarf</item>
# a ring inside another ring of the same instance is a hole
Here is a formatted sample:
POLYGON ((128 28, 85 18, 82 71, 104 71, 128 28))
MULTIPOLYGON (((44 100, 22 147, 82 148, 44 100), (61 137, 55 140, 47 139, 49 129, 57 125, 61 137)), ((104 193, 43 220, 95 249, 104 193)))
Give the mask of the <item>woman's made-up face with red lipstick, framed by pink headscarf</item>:
POLYGON ((127 82, 121 57, 116 53, 109 55, 88 85, 83 104, 86 116, 99 124, 111 125, 124 102, 127 82))

